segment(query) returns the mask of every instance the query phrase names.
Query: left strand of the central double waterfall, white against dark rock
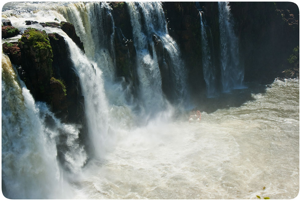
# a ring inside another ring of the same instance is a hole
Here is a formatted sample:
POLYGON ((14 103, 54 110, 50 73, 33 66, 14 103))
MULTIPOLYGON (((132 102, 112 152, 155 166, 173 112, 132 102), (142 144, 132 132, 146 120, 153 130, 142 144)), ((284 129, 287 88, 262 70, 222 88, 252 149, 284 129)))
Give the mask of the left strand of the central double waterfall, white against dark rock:
MULTIPOLYGON (((141 86, 140 94, 143 101, 143 108, 148 115, 154 110, 154 112, 162 111, 166 105, 166 100, 162 94, 162 80, 156 52, 153 48, 151 52, 153 57, 151 57, 150 51, 148 50, 149 36, 146 36, 142 31, 143 27, 139 16, 140 13, 138 12, 139 8, 133 2, 128 2, 128 5, 131 25, 133 27, 134 45, 137 51, 138 76, 141 86)), ((154 46, 153 42, 152 46, 154 46)))

